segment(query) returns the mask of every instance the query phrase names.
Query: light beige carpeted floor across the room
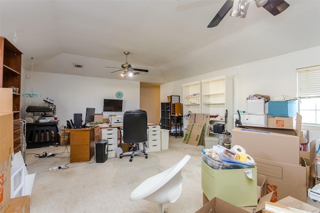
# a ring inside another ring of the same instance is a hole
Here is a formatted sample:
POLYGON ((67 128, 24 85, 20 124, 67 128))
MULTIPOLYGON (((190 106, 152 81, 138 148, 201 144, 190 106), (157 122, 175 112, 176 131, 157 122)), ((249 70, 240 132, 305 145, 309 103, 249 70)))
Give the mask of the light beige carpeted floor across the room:
POLYGON ((25 163, 34 173, 30 211, 32 213, 156 213, 157 204, 129 201, 130 193, 145 179, 173 166, 185 155, 190 160, 182 169, 182 193, 173 204, 165 205, 169 213, 194 213, 202 207, 201 149, 169 137, 169 149, 135 156, 109 158, 104 163, 69 164, 69 147, 27 149, 25 163), (35 157, 43 151, 54 157, 35 157), (33 163, 35 162, 35 163, 33 163), (47 171, 63 165, 64 169, 47 171))

